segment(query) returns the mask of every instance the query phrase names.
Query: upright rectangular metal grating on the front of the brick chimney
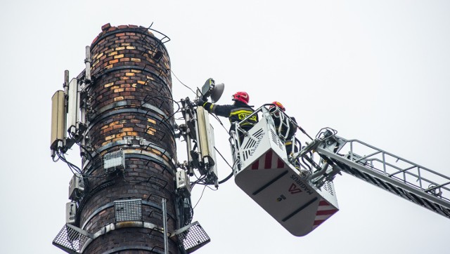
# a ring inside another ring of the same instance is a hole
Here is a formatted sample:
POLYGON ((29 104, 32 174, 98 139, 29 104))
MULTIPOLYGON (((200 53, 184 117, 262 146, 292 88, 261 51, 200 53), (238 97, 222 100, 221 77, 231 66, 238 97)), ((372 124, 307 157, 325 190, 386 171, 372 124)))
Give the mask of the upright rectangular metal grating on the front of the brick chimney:
POLYGON ((114 201, 115 222, 142 221, 142 199, 114 201))

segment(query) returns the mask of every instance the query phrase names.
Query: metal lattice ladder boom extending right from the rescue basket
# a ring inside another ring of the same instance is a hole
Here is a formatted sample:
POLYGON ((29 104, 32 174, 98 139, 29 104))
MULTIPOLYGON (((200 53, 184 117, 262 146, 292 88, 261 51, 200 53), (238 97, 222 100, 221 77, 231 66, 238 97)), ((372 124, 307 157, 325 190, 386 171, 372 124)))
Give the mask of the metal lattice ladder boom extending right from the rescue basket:
POLYGON ((344 171, 450 218, 450 178, 446 175, 359 140, 338 136, 323 140, 315 151, 331 167, 313 181, 332 180, 339 171, 344 171))

